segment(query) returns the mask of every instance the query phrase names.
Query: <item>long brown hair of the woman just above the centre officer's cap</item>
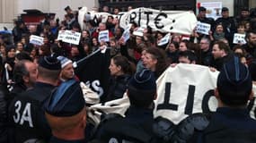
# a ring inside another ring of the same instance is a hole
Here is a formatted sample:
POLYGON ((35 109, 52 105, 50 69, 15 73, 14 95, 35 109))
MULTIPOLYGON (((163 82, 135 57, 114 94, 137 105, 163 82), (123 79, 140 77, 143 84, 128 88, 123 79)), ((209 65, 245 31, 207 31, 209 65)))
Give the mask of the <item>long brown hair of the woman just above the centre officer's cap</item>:
POLYGON ((146 49, 146 53, 153 55, 154 59, 157 60, 155 65, 155 76, 158 78, 167 68, 166 55, 162 49, 157 47, 150 47, 146 49))

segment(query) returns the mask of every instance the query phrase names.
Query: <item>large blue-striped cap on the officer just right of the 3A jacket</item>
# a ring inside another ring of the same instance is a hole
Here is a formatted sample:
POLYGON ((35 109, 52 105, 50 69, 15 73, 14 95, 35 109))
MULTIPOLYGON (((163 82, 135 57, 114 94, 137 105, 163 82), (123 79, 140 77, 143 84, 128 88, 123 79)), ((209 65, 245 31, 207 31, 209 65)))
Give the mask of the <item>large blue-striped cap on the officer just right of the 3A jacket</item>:
POLYGON ((84 109, 82 88, 76 80, 67 80, 51 94, 45 103, 45 111, 58 117, 72 116, 84 109))

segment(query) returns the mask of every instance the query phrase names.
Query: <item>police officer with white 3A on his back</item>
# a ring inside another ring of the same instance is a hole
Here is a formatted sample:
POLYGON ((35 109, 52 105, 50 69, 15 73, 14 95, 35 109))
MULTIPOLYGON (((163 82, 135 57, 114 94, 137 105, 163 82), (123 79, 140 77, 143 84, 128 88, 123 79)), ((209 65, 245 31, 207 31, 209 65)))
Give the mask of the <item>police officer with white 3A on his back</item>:
POLYGON ((57 85, 60 70, 56 57, 41 57, 34 88, 13 99, 9 106, 9 121, 13 124, 12 139, 15 142, 49 141, 51 133, 42 107, 57 85))

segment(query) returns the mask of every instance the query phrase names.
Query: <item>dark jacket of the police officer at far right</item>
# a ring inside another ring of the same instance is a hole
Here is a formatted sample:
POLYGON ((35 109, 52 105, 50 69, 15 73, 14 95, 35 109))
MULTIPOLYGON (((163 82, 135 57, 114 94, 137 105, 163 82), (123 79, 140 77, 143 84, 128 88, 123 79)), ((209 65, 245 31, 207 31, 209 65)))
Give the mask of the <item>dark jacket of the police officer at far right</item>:
POLYGON ((197 143, 252 143, 256 140, 256 121, 248 110, 227 107, 217 108, 212 114, 207 128, 195 131, 188 142, 197 143))

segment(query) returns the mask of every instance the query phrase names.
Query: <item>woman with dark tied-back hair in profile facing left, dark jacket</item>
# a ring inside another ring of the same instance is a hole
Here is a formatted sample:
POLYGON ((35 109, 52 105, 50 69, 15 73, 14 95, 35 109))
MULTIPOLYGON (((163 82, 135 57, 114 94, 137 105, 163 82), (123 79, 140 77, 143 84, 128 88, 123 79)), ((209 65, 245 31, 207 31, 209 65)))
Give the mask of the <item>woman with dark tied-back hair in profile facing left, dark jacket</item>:
POLYGON ((135 65, 125 56, 117 55, 110 61, 110 88, 104 102, 123 97, 128 81, 135 72, 135 65))

